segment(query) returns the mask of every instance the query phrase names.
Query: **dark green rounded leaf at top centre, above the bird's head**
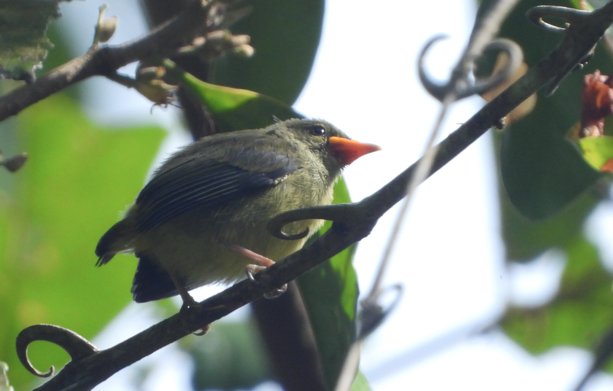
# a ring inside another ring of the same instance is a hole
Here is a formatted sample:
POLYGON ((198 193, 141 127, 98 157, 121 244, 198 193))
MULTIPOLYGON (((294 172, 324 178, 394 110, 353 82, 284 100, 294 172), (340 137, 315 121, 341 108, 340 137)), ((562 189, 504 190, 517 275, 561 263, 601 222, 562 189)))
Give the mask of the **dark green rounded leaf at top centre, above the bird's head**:
POLYGON ((253 10, 232 25, 232 32, 248 34, 256 53, 251 58, 229 55, 219 59, 208 81, 292 104, 311 72, 324 0, 253 0, 245 4, 253 10))

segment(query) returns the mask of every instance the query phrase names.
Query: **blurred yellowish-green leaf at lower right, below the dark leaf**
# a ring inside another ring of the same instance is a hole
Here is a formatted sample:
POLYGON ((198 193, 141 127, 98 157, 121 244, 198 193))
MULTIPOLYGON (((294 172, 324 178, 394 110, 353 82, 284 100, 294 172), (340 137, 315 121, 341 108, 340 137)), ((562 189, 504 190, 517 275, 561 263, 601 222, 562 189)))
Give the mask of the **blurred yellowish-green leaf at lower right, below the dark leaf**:
POLYGON ((561 345, 591 349, 613 324, 612 278, 596 249, 579 235, 566 254, 568 264, 554 300, 538 308, 511 308, 501 322, 530 352, 561 345))

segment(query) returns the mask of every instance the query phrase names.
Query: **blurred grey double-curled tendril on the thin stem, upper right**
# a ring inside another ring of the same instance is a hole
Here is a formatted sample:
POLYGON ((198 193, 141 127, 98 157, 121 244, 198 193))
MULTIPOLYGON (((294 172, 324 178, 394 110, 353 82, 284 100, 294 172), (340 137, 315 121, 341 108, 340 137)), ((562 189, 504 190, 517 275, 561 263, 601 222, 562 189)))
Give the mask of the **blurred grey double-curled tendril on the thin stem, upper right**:
POLYGON ((445 38, 447 38, 447 36, 435 36, 430 39, 427 44, 425 44, 419 55, 419 59, 417 60, 419 80, 421 81, 422 85, 424 85, 426 91, 441 102, 445 99, 447 94, 450 93, 453 93, 455 98, 459 100, 474 94, 484 94, 487 91, 496 88, 515 74, 524 60, 522 49, 515 42, 504 38, 493 39, 489 44, 487 44, 485 50, 504 51, 509 56, 509 61, 507 61, 503 69, 487 78, 477 79, 474 81, 474 83, 467 83, 466 81, 459 83, 458 81, 450 80, 446 84, 439 84, 433 82, 433 80, 425 72, 424 58, 427 51, 430 50, 430 47, 432 47, 435 42, 445 38))

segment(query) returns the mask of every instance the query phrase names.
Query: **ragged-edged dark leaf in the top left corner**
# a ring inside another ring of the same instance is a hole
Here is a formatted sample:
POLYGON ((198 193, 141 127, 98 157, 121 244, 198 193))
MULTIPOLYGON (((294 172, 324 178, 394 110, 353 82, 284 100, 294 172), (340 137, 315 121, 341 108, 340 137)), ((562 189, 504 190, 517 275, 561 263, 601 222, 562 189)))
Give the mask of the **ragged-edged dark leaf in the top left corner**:
POLYGON ((31 80, 47 51, 51 20, 59 17, 58 1, 8 1, 0 4, 0 76, 31 80))

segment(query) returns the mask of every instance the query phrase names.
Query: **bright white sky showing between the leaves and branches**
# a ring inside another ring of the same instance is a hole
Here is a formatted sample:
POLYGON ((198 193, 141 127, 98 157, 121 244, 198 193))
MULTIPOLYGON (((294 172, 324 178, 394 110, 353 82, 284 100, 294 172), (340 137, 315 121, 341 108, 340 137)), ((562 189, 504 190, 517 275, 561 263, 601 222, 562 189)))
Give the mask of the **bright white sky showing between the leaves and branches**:
MULTIPOLYGON (((145 31, 142 18, 135 17, 140 11, 134 0, 107 3, 107 15, 119 17, 110 44, 126 42, 145 31)), ((82 36, 74 55, 85 53, 91 44, 100 4, 91 0, 62 4, 63 23, 70 23, 72 31, 82 36)), ((420 9, 414 2, 400 0, 327 1, 316 64, 295 108, 334 123, 354 139, 383 148, 346 169, 354 200, 383 186, 422 153, 440 109, 417 80, 416 58, 422 45, 441 32, 451 36, 436 44, 428 56, 427 69, 440 80, 447 78, 465 45, 474 19, 474 1, 430 4, 433 7, 420 3, 420 9)), ((134 66, 125 70, 133 71, 134 66)), ((94 120, 167 127, 171 135, 161 158, 169 148, 189 141, 178 132, 178 110, 154 108, 151 115, 151 103, 133 90, 103 78, 86 85, 90 91, 86 110, 94 120)), ((481 104, 480 99, 455 104, 447 116, 445 134, 470 118, 481 104)), ((376 391, 568 390, 589 365, 587 352, 574 348, 533 357, 498 330, 460 338, 495 319, 506 297, 527 303, 551 297, 563 267, 557 254, 546 254, 533 265, 505 270, 489 138, 489 134, 482 137, 419 187, 386 277, 387 284, 404 285, 404 297, 386 324, 367 340, 362 354, 362 370, 376 391)), ((600 240, 596 238, 600 243, 607 239, 602 232, 610 237, 613 228, 610 209, 600 208, 603 213, 590 222, 589 232, 600 232, 600 240)), ((370 289, 394 218, 392 210, 360 243, 355 265, 362 292, 370 289)), ((603 251, 613 258, 610 246, 603 251)), ((205 289, 198 297, 210 293, 211 289, 205 289)), ((132 303, 94 342, 99 347, 112 346, 148 327, 152 316, 147 305, 132 303)), ((167 347, 143 361, 158 371, 145 389, 187 389, 189 360, 177 349, 167 347)), ((134 389, 126 380, 137 376, 139 365, 143 368, 143 363, 134 365, 97 389, 134 389)), ((585 390, 612 386, 612 378, 602 375, 585 390)))

